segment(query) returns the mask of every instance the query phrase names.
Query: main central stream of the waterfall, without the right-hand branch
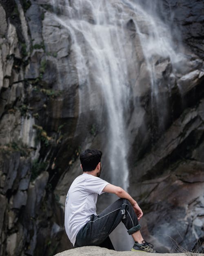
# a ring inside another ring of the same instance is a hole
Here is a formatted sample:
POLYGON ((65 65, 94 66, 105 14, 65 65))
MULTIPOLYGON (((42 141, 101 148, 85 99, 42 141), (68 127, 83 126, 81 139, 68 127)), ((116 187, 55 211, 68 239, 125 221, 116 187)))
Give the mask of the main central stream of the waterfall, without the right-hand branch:
POLYGON ((66 6, 69 18, 64 16, 56 19, 71 33, 81 86, 80 112, 87 104, 91 111, 94 101, 102 97, 107 113, 104 122, 108 135, 104 139, 109 151, 111 181, 127 189, 129 142, 126 113, 131 97, 127 59, 131 56, 126 56, 124 50, 126 36, 123 13, 118 16, 116 7, 111 1, 73 1, 66 6), (95 91, 94 97, 88 96, 89 100, 84 97, 91 95, 92 91, 95 91))

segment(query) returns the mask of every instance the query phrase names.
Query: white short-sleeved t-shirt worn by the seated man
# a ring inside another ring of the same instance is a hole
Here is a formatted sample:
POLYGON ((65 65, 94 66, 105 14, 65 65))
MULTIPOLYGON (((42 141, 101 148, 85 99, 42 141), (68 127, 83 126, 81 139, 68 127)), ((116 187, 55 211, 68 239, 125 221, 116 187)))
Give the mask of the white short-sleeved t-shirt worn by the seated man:
POLYGON ((75 245, 78 231, 96 214, 98 195, 109 183, 91 174, 83 173, 71 184, 65 203, 64 226, 69 240, 75 245))

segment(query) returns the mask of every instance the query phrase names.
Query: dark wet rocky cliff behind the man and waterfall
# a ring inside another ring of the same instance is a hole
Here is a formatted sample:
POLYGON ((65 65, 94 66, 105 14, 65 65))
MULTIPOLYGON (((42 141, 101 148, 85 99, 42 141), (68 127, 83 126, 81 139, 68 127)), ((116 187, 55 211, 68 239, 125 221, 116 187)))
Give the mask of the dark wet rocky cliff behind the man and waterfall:
MULTIPOLYGON (((101 78, 94 78, 98 67, 90 42, 83 31, 73 34, 64 25, 78 10, 72 1, 69 8, 66 2, 53 6, 49 0, 0 1, 0 255, 53 255, 72 248, 64 231, 63 207, 69 185, 80 174, 82 149, 104 151, 102 178, 114 182, 105 172, 110 166, 109 106, 102 91, 95 89, 101 78), (78 59, 80 55, 84 57, 78 59), (80 61, 86 69, 80 70, 80 61)), ((149 2, 147 14, 159 19, 158 30, 165 25, 171 31, 172 39, 166 37, 173 42, 172 54, 163 56, 160 49, 151 55, 151 43, 141 43, 151 38, 153 22, 144 18, 143 1, 136 11, 119 0, 110 2, 118 21, 109 18, 107 27, 117 26, 126 38, 126 158, 129 192, 144 211, 142 232, 157 250, 173 252, 177 242, 186 250, 196 249, 198 243, 201 252, 204 4, 149 2)), ((97 24, 89 5, 81 11, 86 22, 97 24)), ((114 68, 121 63, 116 64, 114 68)), ((101 199, 98 208, 102 205, 106 200, 101 199)))

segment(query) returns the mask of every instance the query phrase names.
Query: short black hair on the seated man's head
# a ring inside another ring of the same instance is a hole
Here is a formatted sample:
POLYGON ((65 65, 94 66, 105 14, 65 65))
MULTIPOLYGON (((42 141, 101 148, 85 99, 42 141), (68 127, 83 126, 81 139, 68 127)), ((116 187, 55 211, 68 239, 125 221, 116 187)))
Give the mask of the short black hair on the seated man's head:
POLYGON ((100 150, 86 149, 80 154, 80 161, 83 172, 95 170, 98 163, 101 161, 102 152, 100 150))

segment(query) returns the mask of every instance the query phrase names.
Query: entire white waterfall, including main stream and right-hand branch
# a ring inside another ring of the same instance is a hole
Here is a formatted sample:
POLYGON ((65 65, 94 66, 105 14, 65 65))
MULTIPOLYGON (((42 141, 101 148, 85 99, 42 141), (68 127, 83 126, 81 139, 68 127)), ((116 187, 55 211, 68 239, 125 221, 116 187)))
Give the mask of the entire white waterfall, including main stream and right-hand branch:
MULTIPOLYGON (((107 120, 103 122, 108 133, 104 140, 111 182, 128 189, 128 120, 137 87, 143 90, 144 86, 138 84, 141 67, 149 78, 152 104, 153 98, 157 103, 160 87, 155 78, 155 57, 169 59, 173 66, 182 55, 175 51, 168 26, 136 0, 65 0, 61 6, 63 15, 55 16, 55 20, 71 35, 80 113, 94 111, 98 104, 102 109, 105 106, 107 120)), ((98 116, 102 117, 101 113, 98 116)), ((137 120, 131 122, 137 124, 137 120)), ((118 249, 129 249, 129 245, 118 249)))

